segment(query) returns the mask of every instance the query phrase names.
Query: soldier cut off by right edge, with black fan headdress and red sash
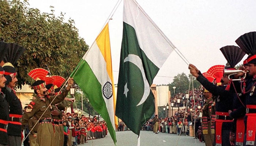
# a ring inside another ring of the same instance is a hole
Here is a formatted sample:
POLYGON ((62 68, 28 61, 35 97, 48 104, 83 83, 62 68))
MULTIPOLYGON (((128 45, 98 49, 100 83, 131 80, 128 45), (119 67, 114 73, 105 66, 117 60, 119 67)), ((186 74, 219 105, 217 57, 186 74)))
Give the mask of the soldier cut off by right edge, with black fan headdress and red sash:
MULTIPOLYGON (((244 145, 256 145, 256 32, 248 32, 241 35, 236 40, 237 45, 246 53, 248 57, 246 64, 248 64, 248 74, 252 77, 251 81, 246 82, 245 91, 245 139, 244 145)), ((246 77, 247 78, 247 77, 246 77)))

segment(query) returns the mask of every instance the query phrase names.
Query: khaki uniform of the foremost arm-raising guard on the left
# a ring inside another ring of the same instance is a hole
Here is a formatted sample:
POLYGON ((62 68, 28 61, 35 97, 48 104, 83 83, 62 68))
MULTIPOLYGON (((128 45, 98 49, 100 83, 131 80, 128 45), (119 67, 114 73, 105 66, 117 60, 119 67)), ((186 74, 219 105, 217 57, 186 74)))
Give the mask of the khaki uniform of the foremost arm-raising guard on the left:
POLYGON ((26 108, 22 117, 22 125, 26 125, 32 116, 35 116, 35 118, 39 119, 39 126, 37 129, 37 142, 39 146, 56 146, 52 143, 52 135, 54 135, 54 133, 51 121, 51 110, 50 108, 46 110, 46 108, 49 106, 50 102, 53 101, 53 99, 54 101, 52 104, 60 103, 64 100, 67 94, 68 91, 64 90, 61 95, 57 96, 55 99, 55 96, 37 96, 36 99, 31 101, 26 108))

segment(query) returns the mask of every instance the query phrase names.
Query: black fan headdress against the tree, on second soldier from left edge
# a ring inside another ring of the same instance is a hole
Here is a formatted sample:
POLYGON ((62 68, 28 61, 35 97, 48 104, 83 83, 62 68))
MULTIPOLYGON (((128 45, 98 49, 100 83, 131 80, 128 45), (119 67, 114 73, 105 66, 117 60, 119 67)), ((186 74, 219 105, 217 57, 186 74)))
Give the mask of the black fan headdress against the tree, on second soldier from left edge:
POLYGON ((8 43, 3 61, 10 62, 12 65, 15 65, 25 50, 26 49, 24 47, 19 46, 16 43, 8 43))

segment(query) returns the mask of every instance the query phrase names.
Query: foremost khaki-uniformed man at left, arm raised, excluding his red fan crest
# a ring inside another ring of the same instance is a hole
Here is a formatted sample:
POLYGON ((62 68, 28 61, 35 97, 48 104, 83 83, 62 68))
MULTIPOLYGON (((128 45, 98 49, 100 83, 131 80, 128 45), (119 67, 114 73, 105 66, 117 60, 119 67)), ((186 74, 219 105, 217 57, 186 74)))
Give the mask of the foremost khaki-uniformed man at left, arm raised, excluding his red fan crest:
POLYGON ((35 116, 35 118, 39 120, 37 130, 37 141, 39 146, 55 146, 52 143, 52 134, 54 134, 52 126, 52 113, 48 106, 50 107, 50 102, 52 101, 52 104, 57 104, 63 101, 67 96, 72 84, 74 84, 74 80, 70 78, 68 80, 68 86, 66 89, 56 98, 55 96, 49 97, 47 95, 45 81, 38 80, 32 84, 32 88, 37 94, 37 99, 35 101, 31 101, 28 108, 25 110, 22 117, 22 125, 25 125, 32 116, 35 116))

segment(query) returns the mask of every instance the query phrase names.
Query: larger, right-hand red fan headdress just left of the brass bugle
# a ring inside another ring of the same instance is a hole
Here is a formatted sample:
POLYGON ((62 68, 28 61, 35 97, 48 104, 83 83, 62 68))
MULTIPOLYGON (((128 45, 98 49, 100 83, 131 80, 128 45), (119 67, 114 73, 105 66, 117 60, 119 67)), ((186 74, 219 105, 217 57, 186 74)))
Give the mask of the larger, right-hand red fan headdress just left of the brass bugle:
POLYGON ((221 82, 224 67, 224 65, 214 65, 207 70, 207 73, 216 79, 215 81, 217 84, 221 82))

